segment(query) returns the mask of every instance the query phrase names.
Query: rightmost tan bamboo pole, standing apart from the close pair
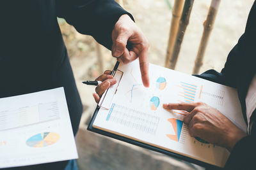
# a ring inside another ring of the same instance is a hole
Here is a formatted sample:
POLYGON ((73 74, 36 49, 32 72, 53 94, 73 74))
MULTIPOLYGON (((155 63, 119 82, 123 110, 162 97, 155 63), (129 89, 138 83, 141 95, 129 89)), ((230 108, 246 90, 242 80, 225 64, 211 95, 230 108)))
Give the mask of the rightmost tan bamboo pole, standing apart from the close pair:
POLYGON ((204 59, 204 53, 209 41, 209 37, 214 25, 214 21, 218 12, 218 8, 220 6, 220 0, 212 0, 211 6, 208 11, 207 18, 204 22, 204 32, 200 41, 200 46, 198 48, 198 52, 196 55, 195 66, 193 69, 193 74, 198 74, 200 67, 203 65, 202 60, 204 59))

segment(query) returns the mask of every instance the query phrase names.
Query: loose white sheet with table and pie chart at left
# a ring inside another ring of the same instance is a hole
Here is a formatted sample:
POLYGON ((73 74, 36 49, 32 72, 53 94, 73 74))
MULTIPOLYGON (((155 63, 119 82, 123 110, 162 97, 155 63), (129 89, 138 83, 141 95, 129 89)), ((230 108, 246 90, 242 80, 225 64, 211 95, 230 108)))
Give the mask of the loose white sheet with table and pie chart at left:
POLYGON ((63 88, 0 99, 0 168, 77 159, 63 88))

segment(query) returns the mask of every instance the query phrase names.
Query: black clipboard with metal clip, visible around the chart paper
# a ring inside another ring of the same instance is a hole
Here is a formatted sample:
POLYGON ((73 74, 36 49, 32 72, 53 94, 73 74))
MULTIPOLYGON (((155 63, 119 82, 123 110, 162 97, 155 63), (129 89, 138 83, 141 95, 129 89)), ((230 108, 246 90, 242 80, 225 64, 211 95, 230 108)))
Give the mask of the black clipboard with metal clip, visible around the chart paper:
POLYGON ((155 152, 163 153, 164 155, 168 155, 168 156, 174 157, 176 159, 185 160, 187 162, 191 162, 193 164, 197 164, 198 166, 202 166, 202 167, 205 167, 205 168, 221 169, 218 166, 214 166, 212 164, 208 164, 208 163, 202 162, 200 160, 192 159, 191 157, 186 157, 184 155, 180 155, 180 154, 175 153, 175 152, 170 152, 168 150, 164 150, 163 148, 159 148, 157 146, 148 145, 147 143, 136 141, 136 140, 127 138, 125 136, 120 136, 118 134, 114 134, 114 133, 111 133, 111 132, 103 131, 101 129, 97 129, 97 128, 93 127, 93 122, 95 121, 95 118, 97 117, 97 114, 98 114, 100 108, 103 108, 103 109, 106 109, 106 110, 110 110, 111 109, 110 108, 111 102, 112 102, 113 98, 115 97, 115 94, 116 94, 116 92, 118 90, 118 85, 119 85, 120 81, 122 80, 122 77, 123 77, 123 74, 124 74, 123 71, 118 69, 118 65, 119 65, 119 62, 116 62, 116 65, 115 65, 115 67, 114 67, 114 69, 112 71, 112 75, 115 76, 115 78, 117 79, 117 83, 116 83, 115 87, 113 86, 112 88, 109 88, 102 95, 102 98, 100 99, 100 103, 95 108, 93 116, 92 116, 92 118, 91 118, 91 120, 90 120, 90 122, 88 124, 87 130, 88 131, 92 131, 92 132, 96 132, 98 134, 102 134, 104 136, 108 136, 110 138, 118 139, 120 141, 124 141, 124 142, 130 143, 132 145, 140 146, 140 147, 146 148, 148 150, 152 150, 152 151, 155 151, 155 152), (113 96, 111 96, 112 97, 111 99, 108 99, 109 103, 103 103, 104 99, 106 99, 105 97, 106 97, 107 93, 112 93, 113 96))

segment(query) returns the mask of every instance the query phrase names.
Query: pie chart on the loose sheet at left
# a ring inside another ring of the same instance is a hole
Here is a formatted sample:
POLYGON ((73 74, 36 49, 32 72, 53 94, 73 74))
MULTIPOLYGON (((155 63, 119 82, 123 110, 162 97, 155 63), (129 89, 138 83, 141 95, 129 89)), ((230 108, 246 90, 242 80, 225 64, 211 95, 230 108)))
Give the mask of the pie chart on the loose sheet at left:
POLYGON ((60 135, 55 132, 43 132, 31 136, 26 141, 26 145, 33 148, 42 148, 45 146, 53 145, 58 142, 60 135))

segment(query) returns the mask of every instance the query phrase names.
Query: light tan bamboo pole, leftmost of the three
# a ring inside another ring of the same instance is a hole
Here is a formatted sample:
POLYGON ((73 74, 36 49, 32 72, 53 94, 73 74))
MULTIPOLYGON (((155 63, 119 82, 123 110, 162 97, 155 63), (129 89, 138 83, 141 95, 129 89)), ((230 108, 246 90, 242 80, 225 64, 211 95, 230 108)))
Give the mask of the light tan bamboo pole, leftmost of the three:
POLYGON ((175 0, 172 10, 172 22, 170 27, 169 41, 165 58, 165 67, 168 67, 169 60, 173 52, 173 45, 177 36, 177 30, 179 27, 180 15, 184 6, 184 0, 175 0))

